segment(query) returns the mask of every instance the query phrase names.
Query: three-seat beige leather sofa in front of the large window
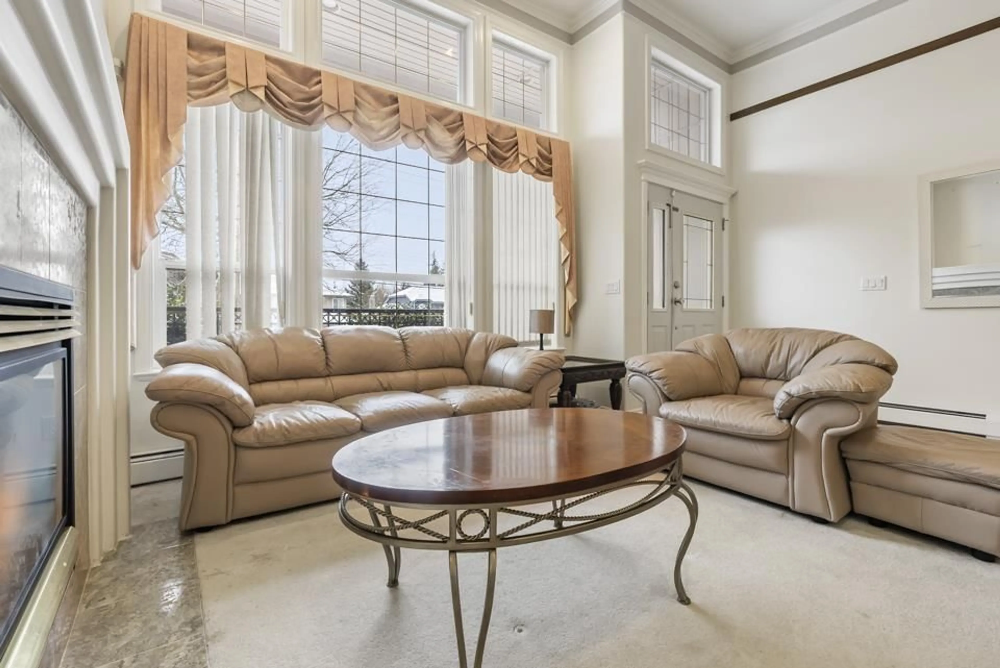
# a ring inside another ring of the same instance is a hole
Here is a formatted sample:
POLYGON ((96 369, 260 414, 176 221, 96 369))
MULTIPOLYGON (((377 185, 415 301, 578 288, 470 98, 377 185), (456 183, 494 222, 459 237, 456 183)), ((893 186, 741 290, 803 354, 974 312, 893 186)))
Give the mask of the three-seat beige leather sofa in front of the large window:
POLYGON ((180 525, 194 529, 340 493, 334 453, 365 434, 546 407, 562 353, 443 327, 236 332, 160 350, 158 431, 186 445, 180 525))

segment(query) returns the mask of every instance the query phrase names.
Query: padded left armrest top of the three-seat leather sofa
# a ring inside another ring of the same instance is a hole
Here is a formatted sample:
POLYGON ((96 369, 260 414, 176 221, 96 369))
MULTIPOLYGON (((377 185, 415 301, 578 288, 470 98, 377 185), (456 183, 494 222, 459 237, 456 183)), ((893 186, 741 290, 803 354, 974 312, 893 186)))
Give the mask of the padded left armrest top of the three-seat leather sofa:
POLYGON ((226 374, 204 364, 168 366, 146 386, 146 396, 160 403, 211 406, 234 427, 253 423, 254 404, 249 393, 226 374))

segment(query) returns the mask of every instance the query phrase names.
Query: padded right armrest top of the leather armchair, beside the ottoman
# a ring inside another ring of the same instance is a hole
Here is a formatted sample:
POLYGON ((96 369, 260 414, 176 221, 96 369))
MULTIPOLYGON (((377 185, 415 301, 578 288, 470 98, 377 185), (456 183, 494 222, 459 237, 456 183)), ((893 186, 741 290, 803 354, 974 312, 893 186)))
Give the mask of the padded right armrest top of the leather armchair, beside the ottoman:
POLYGON ((792 417, 811 399, 843 399, 871 404, 889 391, 892 376, 868 364, 834 364, 809 371, 785 383, 774 397, 774 414, 783 420, 792 417))

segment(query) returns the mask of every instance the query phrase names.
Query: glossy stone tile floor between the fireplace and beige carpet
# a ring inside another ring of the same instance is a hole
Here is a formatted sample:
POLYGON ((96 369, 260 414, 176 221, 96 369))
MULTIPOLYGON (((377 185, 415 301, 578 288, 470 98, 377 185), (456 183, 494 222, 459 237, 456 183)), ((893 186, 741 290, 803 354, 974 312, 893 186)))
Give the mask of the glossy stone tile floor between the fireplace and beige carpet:
POLYGON ((180 481, 132 490, 132 538, 92 568, 62 668, 207 668, 194 538, 180 481))

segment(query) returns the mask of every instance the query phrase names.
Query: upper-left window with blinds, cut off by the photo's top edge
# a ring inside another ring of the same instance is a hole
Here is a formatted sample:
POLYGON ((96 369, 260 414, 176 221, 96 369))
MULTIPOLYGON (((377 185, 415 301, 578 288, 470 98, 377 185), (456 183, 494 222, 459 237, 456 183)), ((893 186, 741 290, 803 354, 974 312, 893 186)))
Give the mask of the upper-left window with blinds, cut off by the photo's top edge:
POLYGON ((167 14, 281 47, 284 0, 161 0, 167 14))

